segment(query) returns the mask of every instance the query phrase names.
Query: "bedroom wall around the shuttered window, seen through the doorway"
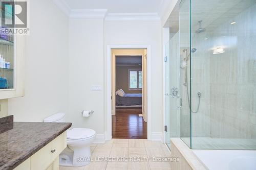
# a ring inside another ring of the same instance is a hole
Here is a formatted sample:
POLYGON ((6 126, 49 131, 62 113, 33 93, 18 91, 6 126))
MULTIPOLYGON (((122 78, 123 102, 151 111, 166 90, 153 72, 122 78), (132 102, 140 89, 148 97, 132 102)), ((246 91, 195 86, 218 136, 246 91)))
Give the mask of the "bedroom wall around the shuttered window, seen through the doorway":
POLYGON ((141 69, 141 66, 116 66, 116 90, 125 93, 142 93, 142 90, 129 90, 129 69, 141 69))

